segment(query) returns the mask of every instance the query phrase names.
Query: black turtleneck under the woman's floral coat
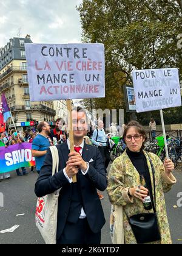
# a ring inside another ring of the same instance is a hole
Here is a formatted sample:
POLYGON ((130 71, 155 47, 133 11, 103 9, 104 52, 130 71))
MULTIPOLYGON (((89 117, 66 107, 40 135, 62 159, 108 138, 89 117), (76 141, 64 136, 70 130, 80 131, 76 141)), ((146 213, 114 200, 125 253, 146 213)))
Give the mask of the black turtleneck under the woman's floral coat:
MULTIPOLYGON (((149 167, 147 165, 147 160, 144 155, 143 151, 140 152, 132 152, 129 150, 129 148, 126 149, 127 155, 129 156, 133 166, 135 166, 136 170, 138 173, 144 176, 146 180, 146 185, 150 193, 150 197, 152 195, 152 185, 151 185, 151 180, 150 180, 150 172, 149 172, 149 167)), ((151 198, 153 201, 153 198, 151 198)))

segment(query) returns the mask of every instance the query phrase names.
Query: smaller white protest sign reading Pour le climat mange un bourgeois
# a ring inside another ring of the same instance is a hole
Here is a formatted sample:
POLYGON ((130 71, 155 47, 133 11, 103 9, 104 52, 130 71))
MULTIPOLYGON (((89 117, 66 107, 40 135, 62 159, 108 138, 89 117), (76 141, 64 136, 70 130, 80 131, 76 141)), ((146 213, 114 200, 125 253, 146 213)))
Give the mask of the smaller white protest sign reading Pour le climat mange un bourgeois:
POLYGON ((136 112, 181 106, 177 68, 135 70, 132 76, 136 112))

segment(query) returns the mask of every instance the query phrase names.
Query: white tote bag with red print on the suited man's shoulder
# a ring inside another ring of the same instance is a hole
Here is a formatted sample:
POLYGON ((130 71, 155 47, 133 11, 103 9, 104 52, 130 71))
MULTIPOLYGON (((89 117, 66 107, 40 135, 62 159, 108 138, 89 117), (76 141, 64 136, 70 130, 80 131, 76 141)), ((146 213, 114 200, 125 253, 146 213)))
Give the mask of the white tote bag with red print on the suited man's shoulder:
MULTIPOLYGON (((50 147, 52 153, 52 175, 58 172, 59 155, 55 146, 50 147)), ((59 190, 38 198, 35 222, 46 244, 56 244, 58 197, 59 190)))

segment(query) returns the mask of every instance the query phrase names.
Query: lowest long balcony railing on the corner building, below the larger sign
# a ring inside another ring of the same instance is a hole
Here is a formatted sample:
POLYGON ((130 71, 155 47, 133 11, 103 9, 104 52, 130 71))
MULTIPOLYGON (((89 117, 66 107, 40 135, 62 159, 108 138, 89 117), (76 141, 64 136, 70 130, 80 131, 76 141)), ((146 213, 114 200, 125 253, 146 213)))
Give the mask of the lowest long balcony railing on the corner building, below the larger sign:
POLYGON ((45 113, 50 113, 52 115, 56 115, 56 111, 53 110, 50 107, 46 107, 44 105, 18 105, 14 107, 10 107, 11 112, 16 112, 16 111, 26 111, 26 110, 39 110, 45 113))

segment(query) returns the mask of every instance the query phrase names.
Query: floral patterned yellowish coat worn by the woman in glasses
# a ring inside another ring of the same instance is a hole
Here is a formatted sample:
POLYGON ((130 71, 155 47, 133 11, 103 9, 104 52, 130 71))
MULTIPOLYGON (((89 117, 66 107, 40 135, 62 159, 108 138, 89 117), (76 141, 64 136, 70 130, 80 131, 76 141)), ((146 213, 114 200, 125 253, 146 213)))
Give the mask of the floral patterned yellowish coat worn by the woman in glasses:
MULTIPOLYGON (((144 154, 147 159, 147 165, 149 166, 152 190, 153 176, 149 156, 155 169, 156 211, 161 233, 161 240, 154 243, 170 244, 172 241, 170 238, 169 223, 167 221, 164 193, 169 191, 177 180, 172 174, 170 174, 170 177, 166 176, 164 165, 157 155, 146 152, 144 152, 144 154), (149 154, 149 156, 147 154, 149 154)), ((116 160, 113 162, 108 177, 107 193, 109 194, 110 202, 113 205, 123 205, 124 243, 126 244, 136 243, 135 236, 133 235, 127 216, 130 217, 138 213, 153 212, 153 210, 145 210, 140 199, 130 197, 127 194, 129 187, 136 187, 138 185, 140 185, 140 174, 138 171, 136 171, 136 168, 133 166, 125 151, 123 155, 116 158, 116 160)))

